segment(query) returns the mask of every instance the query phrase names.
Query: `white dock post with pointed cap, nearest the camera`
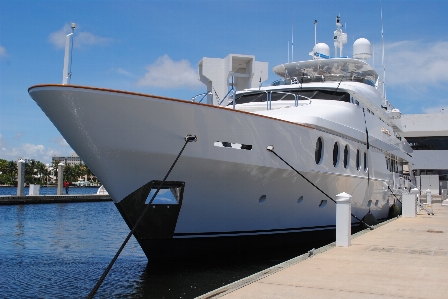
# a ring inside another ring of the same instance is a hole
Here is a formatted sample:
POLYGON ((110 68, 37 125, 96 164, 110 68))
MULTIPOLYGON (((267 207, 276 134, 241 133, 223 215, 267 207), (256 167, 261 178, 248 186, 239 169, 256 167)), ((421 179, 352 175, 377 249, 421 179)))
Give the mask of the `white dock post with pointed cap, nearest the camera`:
POLYGON ((345 192, 336 195, 336 246, 349 247, 352 239, 352 196, 345 192))

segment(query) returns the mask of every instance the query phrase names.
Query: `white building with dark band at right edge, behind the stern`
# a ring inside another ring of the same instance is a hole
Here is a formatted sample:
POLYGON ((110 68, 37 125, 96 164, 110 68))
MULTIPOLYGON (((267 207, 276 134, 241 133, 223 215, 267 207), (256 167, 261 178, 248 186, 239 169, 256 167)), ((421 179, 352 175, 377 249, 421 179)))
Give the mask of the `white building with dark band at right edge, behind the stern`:
POLYGON ((401 127, 400 135, 414 150, 414 175, 438 179, 440 194, 441 189, 447 189, 448 181, 448 114, 405 114, 401 127))

